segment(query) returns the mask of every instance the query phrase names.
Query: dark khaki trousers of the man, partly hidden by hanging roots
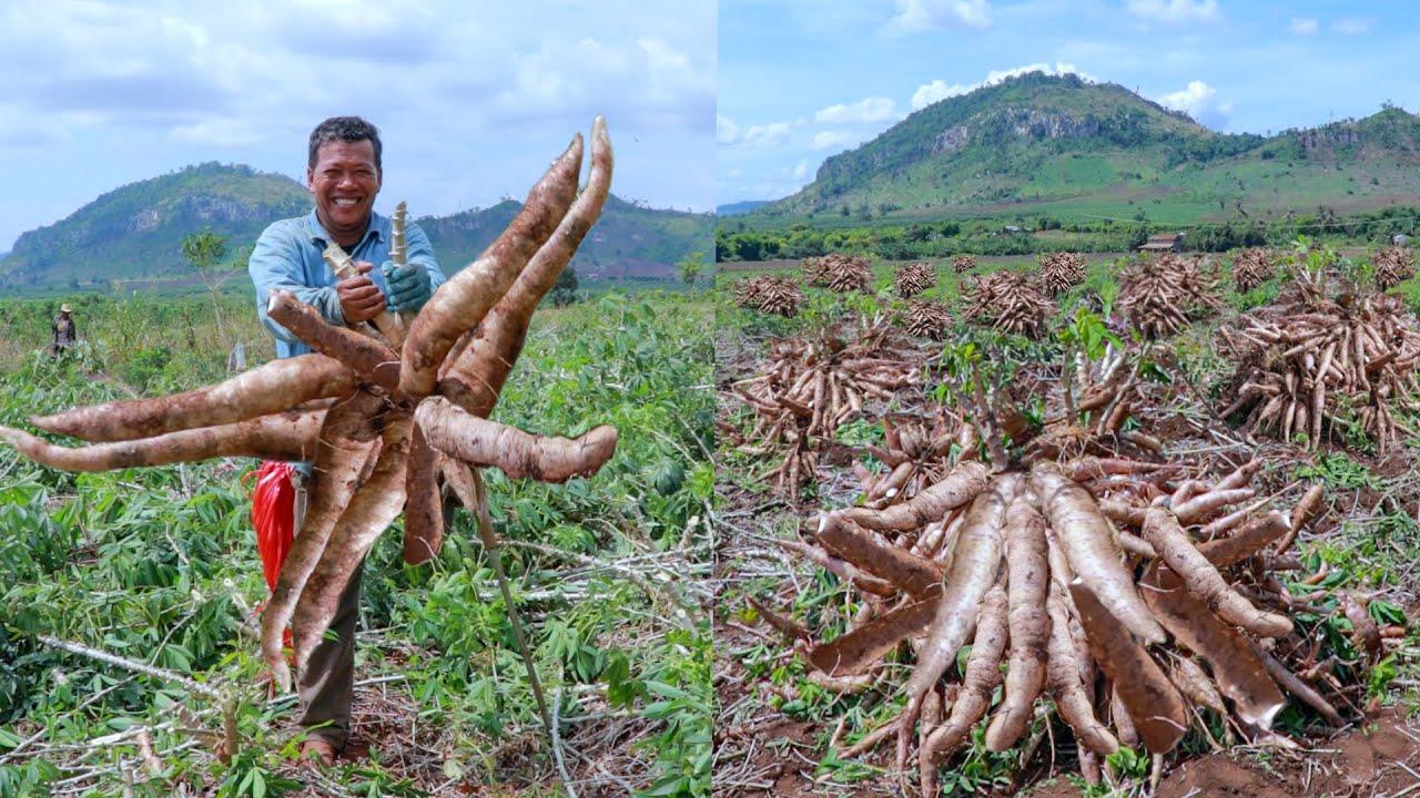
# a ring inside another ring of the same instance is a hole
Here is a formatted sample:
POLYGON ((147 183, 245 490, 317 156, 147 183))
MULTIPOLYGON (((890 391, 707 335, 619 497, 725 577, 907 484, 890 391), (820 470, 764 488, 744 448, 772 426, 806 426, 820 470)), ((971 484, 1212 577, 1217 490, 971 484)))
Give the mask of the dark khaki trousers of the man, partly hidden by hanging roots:
MULTIPOLYGON (((295 530, 305 520, 305 488, 308 477, 295 473, 295 530)), ((345 747, 351 731, 351 703, 355 699, 355 629, 359 622, 359 584, 365 569, 362 559, 351 576, 341 601, 335 606, 331 630, 311 652, 305 670, 295 674, 295 693, 301 700, 301 714, 295 723, 310 728, 307 738, 329 743, 335 750, 345 747), (320 728, 311 728, 318 726, 320 728)))

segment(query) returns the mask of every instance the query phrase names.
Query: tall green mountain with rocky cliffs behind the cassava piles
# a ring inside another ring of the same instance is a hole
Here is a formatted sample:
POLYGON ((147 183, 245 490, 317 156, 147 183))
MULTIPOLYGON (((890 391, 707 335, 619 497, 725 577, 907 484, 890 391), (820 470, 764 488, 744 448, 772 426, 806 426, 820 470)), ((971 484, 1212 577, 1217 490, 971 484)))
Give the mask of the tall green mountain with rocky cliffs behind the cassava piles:
MULTIPOLYGON (((750 226, 970 216, 1201 220, 1420 202, 1420 116, 1218 133, 1115 84, 1032 72, 929 105, 750 226), (758 222, 758 224, 755 224, 758 222)), ((738 223, 737 223, 738 224, 738 223)))

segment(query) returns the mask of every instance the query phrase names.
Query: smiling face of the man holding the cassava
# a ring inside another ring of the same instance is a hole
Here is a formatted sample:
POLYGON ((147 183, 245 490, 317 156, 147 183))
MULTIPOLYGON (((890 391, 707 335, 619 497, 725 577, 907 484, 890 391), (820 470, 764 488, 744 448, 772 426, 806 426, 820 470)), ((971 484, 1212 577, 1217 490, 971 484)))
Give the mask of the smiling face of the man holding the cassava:
POLYGON ((315 217, 339 244, 359 240, 369 223, 379 193, 375 145, 361 141, 329 142, 315 151, 315 168, 305 170, 305 183, 315 197, 315 217))

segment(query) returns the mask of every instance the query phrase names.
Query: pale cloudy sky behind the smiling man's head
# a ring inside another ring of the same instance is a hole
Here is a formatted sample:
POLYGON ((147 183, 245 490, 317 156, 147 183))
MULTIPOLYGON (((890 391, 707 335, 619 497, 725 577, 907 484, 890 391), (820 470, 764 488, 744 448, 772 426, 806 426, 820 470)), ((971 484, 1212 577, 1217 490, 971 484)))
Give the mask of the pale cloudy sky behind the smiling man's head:
POLYGON ((0 87, 0 251, 192 163, 304 183, 332 115, 379 126, 381 212, 521 200, 596 114, 615 195, 714 207, 713 1, 6 0, 0 87))

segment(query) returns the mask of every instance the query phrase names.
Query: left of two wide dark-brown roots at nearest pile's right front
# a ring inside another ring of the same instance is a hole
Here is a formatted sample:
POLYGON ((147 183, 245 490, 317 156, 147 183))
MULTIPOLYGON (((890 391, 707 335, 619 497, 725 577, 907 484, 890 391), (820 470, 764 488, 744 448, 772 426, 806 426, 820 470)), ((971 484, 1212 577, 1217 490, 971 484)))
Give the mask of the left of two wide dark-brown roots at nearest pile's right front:
POLYGON ((1173 748, 1189 730, 1183 697, 1123 625, 1105 609, 1081 578, 1069 585, 1095 662, 1115 683, 1139 738, 1154 754, 1173 748))

